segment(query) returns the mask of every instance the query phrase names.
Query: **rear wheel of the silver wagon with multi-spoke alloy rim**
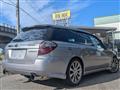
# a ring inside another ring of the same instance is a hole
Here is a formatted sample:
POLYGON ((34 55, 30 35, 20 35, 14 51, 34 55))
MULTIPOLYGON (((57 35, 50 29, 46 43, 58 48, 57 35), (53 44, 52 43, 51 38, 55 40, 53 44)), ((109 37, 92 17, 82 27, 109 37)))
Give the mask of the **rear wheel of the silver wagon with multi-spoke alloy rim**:
POLYGON ((68 65, 66 72, 66 82, 70 86, 77 86, 80 84, 83 75, 83 68, 80 60, 74 58, 68 65))

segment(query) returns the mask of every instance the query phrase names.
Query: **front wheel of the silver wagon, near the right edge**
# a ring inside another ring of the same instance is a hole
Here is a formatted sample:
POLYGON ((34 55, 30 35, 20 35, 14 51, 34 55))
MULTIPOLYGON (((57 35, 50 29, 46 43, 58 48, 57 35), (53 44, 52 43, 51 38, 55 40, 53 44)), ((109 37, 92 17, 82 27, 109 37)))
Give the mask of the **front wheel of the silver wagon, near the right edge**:
POLYGON ((117 58, 113 58, 109 71, 111 73, 116 73, 119 71, 119 60, 117 58))

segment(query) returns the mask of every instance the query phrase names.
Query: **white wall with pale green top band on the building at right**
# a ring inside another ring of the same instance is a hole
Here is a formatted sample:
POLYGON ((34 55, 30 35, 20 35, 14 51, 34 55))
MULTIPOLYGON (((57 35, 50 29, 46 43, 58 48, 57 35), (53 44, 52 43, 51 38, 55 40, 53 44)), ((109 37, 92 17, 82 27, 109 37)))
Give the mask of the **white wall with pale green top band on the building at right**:
POLYGON ((97 27, 115 27, 114 39, 120 40, 120 15, 98 17, 94 19, 94 25, 97 27))

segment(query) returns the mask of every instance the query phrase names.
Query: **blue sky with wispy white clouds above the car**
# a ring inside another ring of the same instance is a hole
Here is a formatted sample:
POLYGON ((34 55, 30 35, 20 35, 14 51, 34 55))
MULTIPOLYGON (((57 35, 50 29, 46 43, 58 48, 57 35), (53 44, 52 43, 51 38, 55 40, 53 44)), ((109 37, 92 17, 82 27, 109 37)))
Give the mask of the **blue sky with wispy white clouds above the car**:
MULTIPOLYGON (((0 0, 0 23, 16 25, 16 0, 0 0)), ((120 0, 20 0, 21 27, 53 24, 52 13, 70 10, 70 25, 94 26, 94 18, 120 14, 120 0), (28 14, 23 12, 25 10, 28 14)))

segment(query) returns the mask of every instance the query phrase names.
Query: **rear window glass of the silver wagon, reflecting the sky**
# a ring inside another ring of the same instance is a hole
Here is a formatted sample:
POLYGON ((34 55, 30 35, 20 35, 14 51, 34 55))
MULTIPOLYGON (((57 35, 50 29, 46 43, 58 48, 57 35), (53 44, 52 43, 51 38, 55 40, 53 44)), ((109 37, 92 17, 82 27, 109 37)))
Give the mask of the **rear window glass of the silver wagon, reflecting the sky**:
POLYGON ((21 32, 18 34, 12 42, 22 42, 22 41, 34 41, 34 40, 49 40, 49 34, 47 29, 33 29, 26 32, 21 32))

